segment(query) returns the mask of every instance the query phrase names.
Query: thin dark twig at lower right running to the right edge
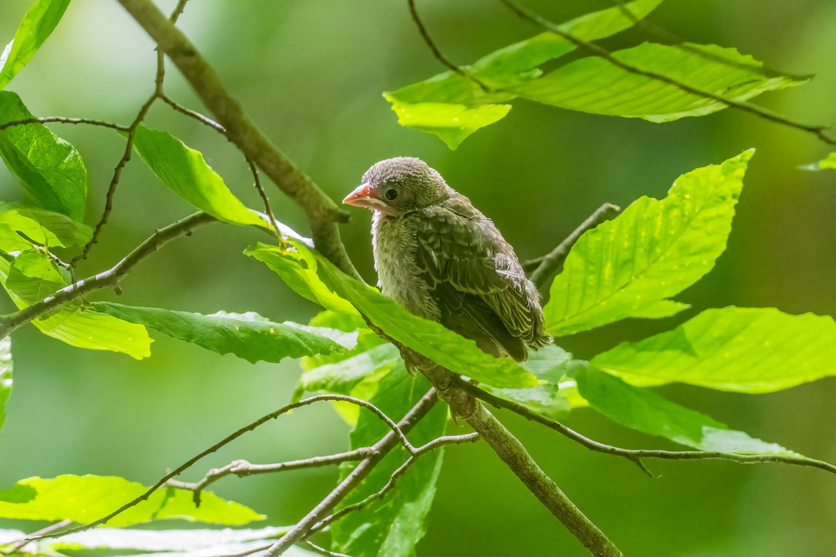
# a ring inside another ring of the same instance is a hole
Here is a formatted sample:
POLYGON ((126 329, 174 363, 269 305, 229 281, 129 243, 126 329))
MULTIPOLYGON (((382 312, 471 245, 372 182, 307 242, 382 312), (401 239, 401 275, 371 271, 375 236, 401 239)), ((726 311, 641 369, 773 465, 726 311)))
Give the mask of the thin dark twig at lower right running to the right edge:
POLYGON ((719 451, 665 451, 655 449, 633 449, 621 448, 608 445, 606 443, 599 443, 583 434, 574 431, 571 428, 564 426, 552 418, 547 418, 542 414, 538 414, 529 410, 521 404, 513 403, 504 398, 497 397, 489 392, 482 391, 479 387, 470 383, 461 382, 460 387, 471 393, 474 397, 485 401, 497 408, 505 408, 513 413, 519 414, 528 420, 541 423, 547 428, 562 434, 563 436, 572 439, 576 443, 580 443, 589 450, 597 453, 611 454, 613 456, 626 458, 630 462, 635 463, 645 474, 653 477, 653 474, 645 468, 642 458, 657 458, 663 460, 728 460, 739 464, 760 464, 760 463, 783 463, 793 464, 795 466, 806 466, 809 468, 819 468, 829 473, 836 473, 836 466, 831 463, 823 462, 822 460, 815 460, 813 458, 790 457, 780 454, 737 454, 737 453, 721 453, 719 451))

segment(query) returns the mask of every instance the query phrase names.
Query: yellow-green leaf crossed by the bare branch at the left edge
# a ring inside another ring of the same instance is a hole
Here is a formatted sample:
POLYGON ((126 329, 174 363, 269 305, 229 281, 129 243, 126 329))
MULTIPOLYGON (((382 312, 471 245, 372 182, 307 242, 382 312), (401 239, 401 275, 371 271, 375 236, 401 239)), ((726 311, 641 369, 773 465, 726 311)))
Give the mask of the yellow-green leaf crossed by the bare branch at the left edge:
MULTIPOLYGON (((39 251, 34 253, 46 260, 45 264, 51 265, 46 254, 39 251)), ((43 264, 44 262, 41 261, 40 265, 43 264)), ((36 274, 35 267, 36 264, 28 264, 25 266, 25 272, 36 274)), ((24 273, 20 272, 19 274, 23 275, 24 273)), ((0 257, 0 283, 3 284, 3 288, 6 289, 9 297, 12 298, 18 308, 22 309, 31 305, 31 303, 24 300, 23 297, 18 295, 17 291, 9 287, 8 281, 10 279, 18 281, 13 286, 23 289, 24 296, 32 295, 33 290, 29 289, 32 285, 36 286, 38 291, 43 291, 41 290, 44 286, 42 279, 29 277, 27 280, 14 275, 9 261, 0 257)), ((59 286, 66 286, 66 283, 59 284, 59 286)), ((32 324, 48 337, 57 338, 74 347, 124 352, 138 360, 150 356, 151 339, 145 327, 104 315, 98 311, 85 309, 81 301, 70 302, 48 316, 35 319, 32 324)))

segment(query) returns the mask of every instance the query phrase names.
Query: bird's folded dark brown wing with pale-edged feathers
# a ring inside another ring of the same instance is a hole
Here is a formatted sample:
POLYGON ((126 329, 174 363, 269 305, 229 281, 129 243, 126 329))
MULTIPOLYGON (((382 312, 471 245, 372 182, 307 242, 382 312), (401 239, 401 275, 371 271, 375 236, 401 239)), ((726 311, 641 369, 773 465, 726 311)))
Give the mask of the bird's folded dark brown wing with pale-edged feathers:
POLYGON ((436 207, 415 219, 416 263, 442 323, 477 344, 487 335, 523 360, 535 329, 523 269, 490 220, 472 206, 453 209, 436 207))

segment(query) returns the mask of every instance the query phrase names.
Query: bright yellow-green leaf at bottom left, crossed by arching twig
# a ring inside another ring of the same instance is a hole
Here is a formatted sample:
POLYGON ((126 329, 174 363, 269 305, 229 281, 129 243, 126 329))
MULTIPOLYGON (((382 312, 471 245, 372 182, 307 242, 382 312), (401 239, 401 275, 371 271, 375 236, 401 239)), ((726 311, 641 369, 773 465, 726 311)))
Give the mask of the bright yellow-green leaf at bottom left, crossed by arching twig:
MULTIPOLYGON (((114 476, 75 476, 20 480, 0 491, 0 517, 4 519, 69 519, 86 524, 110 514, 145 493, 145 486, 114 476)), ((247 524, 263 519, 242 504, 203 492, 196 507, 187 489, 158 489, 150 497, 108 521, 110 526, 142 524, 151 520, 184 519, 212 524, 247 524)))

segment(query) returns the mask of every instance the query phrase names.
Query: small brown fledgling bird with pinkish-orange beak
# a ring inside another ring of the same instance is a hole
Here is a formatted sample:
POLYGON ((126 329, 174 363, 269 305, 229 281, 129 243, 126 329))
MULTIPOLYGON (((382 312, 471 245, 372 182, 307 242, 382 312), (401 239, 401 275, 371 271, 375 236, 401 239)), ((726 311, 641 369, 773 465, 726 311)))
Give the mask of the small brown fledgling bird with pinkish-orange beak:
POLYGON ((553 341, 537 288, 492 220, 423 160, 372 165, 343 203, 373 211, 380 291, 494 357, 553 341))

